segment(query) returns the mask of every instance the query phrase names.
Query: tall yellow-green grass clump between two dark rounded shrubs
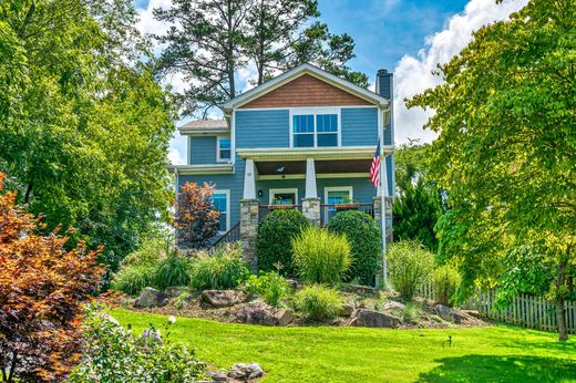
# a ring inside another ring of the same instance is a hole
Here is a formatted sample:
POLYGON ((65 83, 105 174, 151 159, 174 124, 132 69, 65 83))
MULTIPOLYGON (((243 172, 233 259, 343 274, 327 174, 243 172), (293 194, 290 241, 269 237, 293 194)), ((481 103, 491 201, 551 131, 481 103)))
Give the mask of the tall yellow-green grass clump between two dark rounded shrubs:
POLYGON ((309 226, 292 240, 294 265, 307 282, 337 284, 350 267, 344 235, 309 226))

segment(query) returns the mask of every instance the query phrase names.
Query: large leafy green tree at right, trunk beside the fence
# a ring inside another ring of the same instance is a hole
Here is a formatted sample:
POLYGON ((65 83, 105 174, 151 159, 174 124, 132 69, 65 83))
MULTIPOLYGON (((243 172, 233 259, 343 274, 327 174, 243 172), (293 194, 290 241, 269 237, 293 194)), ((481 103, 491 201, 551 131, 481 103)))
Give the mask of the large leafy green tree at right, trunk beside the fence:
POLYGON ((533 276, 504 258, 536 246, 547 297, 564 310, 576 273, 575 14, 572 0, 529 1, 476 31, 440 68, 445 83, 409 103, 435 111, 426 123, 439 133, 431 175, 451 207, 438 226, 439 250, 459 258, 463 292, 510 272, 508 283, 525 288, 533 276))

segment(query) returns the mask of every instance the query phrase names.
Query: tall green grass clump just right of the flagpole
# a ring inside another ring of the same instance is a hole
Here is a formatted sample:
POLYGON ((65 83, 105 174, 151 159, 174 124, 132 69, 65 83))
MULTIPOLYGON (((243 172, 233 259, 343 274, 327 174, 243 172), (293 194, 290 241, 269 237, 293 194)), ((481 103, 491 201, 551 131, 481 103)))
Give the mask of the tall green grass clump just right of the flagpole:
POLYGON ((416 289, 426 282, 434 266, 434 256, 421 244, 400 241, 388 252, 390 280, 400 296, 410 301, 416 289))

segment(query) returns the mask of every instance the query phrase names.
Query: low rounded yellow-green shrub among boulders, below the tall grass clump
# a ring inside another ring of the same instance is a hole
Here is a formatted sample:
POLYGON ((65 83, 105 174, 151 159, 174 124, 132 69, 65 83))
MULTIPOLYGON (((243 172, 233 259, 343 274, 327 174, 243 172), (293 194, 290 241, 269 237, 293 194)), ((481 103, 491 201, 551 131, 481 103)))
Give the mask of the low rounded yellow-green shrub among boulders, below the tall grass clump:
POLYGON ((311 321, 335 318, 342 306, 340 293, 321 284, 307 286, 296 294, 296 308, 311 321))

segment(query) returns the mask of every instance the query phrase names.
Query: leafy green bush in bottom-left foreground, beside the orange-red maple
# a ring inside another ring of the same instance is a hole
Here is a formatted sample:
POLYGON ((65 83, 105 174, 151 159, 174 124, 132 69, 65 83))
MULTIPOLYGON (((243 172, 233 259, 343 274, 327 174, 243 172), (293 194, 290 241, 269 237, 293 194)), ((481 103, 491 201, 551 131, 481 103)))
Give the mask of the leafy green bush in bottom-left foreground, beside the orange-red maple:
MULTIPOLYGON (((169 335, 168 322, 164 329, 169 335)), ((85 382, 196 382, 204 377, 205 364, 182 343, 162 340, 152 324, 147 339, 134 335, 97 311, 85 319, 84 354, 69 376, 71 383, 85 382)))

